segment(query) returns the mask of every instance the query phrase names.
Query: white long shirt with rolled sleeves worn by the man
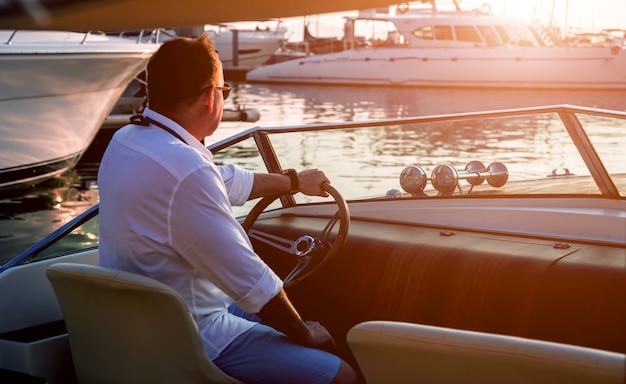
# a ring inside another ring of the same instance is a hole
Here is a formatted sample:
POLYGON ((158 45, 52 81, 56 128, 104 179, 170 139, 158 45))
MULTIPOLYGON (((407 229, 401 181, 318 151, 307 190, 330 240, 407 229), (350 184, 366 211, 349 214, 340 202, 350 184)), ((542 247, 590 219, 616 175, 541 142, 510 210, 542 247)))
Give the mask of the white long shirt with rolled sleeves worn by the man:
MULTIPOLYGON (((257 313, 282 281, 254 253, 232 214, 253 174, 217 167, 204 145, 146 109, 188 144, 150 125, 115 133, 100 163, 100 265, 157 279, 178 291, 198 324, 209 358, 254 323, 228 313, 234 301, 257 313)), ((140 325, 138 325, 140 326, 140 325)))

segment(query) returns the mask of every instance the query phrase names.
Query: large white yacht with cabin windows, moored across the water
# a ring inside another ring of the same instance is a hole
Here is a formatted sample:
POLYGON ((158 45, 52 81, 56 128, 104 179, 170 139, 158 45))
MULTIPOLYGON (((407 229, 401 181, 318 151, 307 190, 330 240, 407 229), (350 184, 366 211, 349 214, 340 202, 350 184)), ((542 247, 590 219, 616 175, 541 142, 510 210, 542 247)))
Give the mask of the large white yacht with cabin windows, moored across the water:
POLYGON ((432 4, 432 9, 362 11, 359 16, 346 18, 344 40, 349 49, 259 67, 247 74, 247 80, 626 89, 626 52, 621 44, 555 45, 535 25, 479 10, 440 11, 432 4))

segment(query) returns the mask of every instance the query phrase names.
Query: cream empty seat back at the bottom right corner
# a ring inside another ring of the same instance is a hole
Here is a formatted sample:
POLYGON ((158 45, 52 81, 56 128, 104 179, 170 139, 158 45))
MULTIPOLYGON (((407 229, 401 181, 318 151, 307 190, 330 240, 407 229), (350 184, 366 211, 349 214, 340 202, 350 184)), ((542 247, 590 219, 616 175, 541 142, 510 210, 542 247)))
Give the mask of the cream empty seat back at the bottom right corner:
POLYGON ((624 384, 625 355, 519 337, 372 321, 348 332, 367 384, 624 384))

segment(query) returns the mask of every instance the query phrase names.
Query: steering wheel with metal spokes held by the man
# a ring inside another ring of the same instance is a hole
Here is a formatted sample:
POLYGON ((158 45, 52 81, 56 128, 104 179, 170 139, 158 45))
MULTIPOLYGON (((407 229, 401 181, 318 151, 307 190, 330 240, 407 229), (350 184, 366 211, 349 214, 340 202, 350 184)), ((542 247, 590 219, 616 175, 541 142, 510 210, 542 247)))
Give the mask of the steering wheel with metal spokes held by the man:
POLYGON ((322 189, 335 199, 335 203, 339 209, 317 236, 303 235, 295 240, 290 240, 252 229, 252 225, 256 222, 263 210, 281 195, 268 196, 261 199, 261 201, 252 208, 250 213, 248 213, 248 216, 242 224, 243 229, 251 239, 270 245, 277 250, 289 254, 290 257, 296 257, 295 267, 293 267, 291 272, 283 279, 285 287, 295 285, 311 276, 311 274, 319 270, 323 264, 335 256, 346 243, 348 230, 350 228, 350 211, 348 210, 348 204, 343 196, 329 183, 322 184, 322 189), (339 222, 339 231, 337 237, 331 243, 329 241, 329 235, 337 222, 339 222), (317 262, 310 268, 307 268, 314 258, 318 259, 317 262))

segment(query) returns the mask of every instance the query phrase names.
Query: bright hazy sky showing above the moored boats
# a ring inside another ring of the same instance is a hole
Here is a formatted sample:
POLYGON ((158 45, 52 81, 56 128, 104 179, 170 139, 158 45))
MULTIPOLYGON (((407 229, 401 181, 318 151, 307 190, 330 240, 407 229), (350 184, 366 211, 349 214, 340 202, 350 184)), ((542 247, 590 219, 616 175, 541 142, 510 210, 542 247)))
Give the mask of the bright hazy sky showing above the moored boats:
MULTIPOLYGON (((562 29, 600 30, 626 29, 626 0, 459 0, 461 8, 475 9, 487 3, 491 13, 498 16, 540 19, 562 29), (554 12, 552 9, 554 8, 554 12), (551 16, 553 15, 553 16, 551 16)), ((437 1, 440 8, 451 2, 437 1)), ((333 13, 309 17, 311 32, 320 37, 341 36, 343 16, 356 12, 333 13), (317 33, 316 33, 317 32, 317 33)), ((303 17, 284 19, 291 32, 290 40, 302 40, 303 17)))

